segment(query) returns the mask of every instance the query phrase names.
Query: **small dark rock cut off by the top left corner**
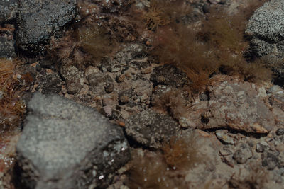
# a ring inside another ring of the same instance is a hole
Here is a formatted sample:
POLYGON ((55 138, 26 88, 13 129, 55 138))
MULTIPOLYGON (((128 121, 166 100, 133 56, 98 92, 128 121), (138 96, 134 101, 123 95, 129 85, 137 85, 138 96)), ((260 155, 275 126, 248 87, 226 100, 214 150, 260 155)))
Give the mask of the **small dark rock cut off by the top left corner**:
POLYGON ((11 21, 16 18, 18 0, 0 1, 0 23, 11 21))

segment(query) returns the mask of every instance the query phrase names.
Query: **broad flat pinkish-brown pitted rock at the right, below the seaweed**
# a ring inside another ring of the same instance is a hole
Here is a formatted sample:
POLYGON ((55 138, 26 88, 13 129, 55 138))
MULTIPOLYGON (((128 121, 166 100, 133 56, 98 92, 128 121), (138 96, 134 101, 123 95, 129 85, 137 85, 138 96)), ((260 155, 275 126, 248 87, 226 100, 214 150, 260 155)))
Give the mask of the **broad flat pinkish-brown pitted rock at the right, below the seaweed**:
POLYGON ((217 80, 209 87, 209 101, 196 101, 187 113, 180 116, 183 127, 229 127, 245 132, 268 133, 284 122, 284 112, 278 107, 281 103, 269 104, 270 95, 266 88, 236 78, 229 79, 228 76, 214 79, 217 80))

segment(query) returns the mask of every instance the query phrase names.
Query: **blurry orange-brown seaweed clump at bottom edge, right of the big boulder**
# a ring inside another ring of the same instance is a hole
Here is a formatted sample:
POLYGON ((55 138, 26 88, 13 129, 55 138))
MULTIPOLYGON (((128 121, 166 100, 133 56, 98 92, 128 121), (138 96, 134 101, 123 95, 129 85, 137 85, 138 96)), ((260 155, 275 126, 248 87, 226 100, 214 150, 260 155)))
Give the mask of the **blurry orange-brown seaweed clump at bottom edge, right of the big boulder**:
POLYGON ((173 137, 161 151, 134 149, 127 172, 129 188, 188 188, 185 174, 204 163, 194 136, 173 137))

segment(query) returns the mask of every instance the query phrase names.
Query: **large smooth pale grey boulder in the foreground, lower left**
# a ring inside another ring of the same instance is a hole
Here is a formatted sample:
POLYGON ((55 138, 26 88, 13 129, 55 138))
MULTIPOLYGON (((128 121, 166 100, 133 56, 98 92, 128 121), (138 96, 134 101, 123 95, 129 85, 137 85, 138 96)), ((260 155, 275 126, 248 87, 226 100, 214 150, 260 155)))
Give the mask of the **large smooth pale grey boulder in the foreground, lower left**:
POLYGON ((130 157, 119 127, 93 108, 35 93, 17 144, 21 182, 28 188, 106 188, 130 157))

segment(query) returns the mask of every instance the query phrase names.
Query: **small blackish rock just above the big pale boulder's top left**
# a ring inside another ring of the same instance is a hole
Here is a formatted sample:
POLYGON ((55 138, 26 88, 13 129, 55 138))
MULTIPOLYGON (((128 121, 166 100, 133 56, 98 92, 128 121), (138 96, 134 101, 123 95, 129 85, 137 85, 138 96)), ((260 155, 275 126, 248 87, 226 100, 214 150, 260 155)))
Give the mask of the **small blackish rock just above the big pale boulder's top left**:
POLYGON ((38 84, 38 88, 41 88, 42 93, 59 93, 62 90, 62 79, 58 73, 40 71, 38 84))

